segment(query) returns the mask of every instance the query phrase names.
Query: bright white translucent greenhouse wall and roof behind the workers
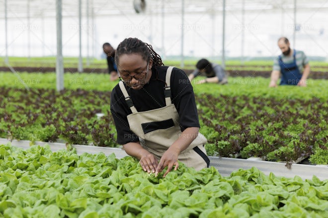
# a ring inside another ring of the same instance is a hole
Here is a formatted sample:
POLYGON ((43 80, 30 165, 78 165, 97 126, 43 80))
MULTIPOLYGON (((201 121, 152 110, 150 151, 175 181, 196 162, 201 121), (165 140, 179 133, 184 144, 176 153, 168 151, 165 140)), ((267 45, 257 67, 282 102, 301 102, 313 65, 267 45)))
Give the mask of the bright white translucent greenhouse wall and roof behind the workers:
POLYGON ((116 47, 126 37, 152 44, 161 56, 180 56, 181 67, 184 56, 221 59, 223 67, 226 55, 271 57, 279 52, 281 36, 308 55, 328 56, 327 0, 0 0, 0 5, 5 39, 0 56, 79 56, 79 72, 82 56, 97 58, 104 42, 116 47))

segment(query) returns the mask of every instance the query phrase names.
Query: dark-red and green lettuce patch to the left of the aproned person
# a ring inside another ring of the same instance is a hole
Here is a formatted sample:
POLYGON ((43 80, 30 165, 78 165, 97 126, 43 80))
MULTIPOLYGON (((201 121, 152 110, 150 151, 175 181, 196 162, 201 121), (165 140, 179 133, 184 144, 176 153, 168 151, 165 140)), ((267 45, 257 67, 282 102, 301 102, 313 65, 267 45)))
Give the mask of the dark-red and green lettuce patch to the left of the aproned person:
POLYGON ((116 147, 109 112, 110 92, 0 88, 3 138, 116 147), (108 102, 108 104, 106 104, 108 102), (96 114, 103 112, 98 119, 96 114))

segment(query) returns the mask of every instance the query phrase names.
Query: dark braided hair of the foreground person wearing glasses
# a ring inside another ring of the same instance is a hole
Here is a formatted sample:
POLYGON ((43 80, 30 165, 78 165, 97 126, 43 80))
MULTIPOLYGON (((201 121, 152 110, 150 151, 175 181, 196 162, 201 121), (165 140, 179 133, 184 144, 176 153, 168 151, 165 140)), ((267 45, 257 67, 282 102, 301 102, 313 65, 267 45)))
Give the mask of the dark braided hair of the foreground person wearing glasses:
POLYGON ((118 65, 119 57, 122 54, 140 54, 147 61, 153 59, 152 68, 164 65, 161 56, 153 50, 153 47, 137 38, 127 38, 118 45, 115 54, 116 65, 118 65))

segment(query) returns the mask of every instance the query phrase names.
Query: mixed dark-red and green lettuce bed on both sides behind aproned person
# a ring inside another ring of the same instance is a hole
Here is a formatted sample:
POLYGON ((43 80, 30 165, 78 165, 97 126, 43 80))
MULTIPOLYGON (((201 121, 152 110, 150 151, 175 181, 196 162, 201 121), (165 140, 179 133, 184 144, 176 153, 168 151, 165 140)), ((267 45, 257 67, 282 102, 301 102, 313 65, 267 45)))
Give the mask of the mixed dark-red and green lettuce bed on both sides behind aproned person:
MULTIPOLYGON (((0 137, 117 147, 110 92, 0 88, 0 137), (97 113, 104 116, 97 117, 97 113)), ((328 163, 328 104, 318 99, 277 100, 196 95, 201 132, 211 156, 291 163, 310 156, 328 163)))

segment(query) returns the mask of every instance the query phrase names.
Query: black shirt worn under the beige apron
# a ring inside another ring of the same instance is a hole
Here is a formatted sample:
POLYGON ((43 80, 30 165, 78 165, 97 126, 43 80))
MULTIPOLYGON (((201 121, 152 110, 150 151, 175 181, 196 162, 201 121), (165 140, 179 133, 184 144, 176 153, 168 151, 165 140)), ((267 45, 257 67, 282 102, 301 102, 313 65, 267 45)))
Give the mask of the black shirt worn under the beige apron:
MULTIPOLYGON (((166 69, 167 66, 153 69, 149 83, 145 84, 141 90, 133 90, 125 85, 135 108, 139 112, 165 107, 164 81, 166 69), (157 73, 158 79, 156 79, 157 73)), ((184 71, 173 68, 170 87, 171 100, 179 114, 181 132, 188 127, 200 127, 193 87, 184 71)), ((130 130, 127 115, 131 114, 132 111, 126 104, 118 84, 112 90, 110 110, 116 126, 117 143, 124 145, 139 141, 139 138, 130 130)))

